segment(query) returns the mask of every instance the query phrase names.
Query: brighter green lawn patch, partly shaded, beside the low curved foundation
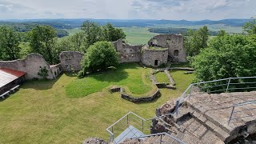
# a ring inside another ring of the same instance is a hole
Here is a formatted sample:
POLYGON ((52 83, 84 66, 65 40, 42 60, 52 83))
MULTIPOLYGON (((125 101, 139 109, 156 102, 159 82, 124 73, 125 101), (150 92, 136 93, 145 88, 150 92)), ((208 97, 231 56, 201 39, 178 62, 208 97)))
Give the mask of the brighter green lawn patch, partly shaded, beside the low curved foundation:
POLYGON ((144 69, 138 64, 122 64, 116 70, 108 70, 98 74, 90 74, 86 78, 75 79, 66 86, 69 98, 84 97, 102 91, 107 86, 127 87, 132 94, 146 94, 153 89, 149 75, 150 69, 144 69))

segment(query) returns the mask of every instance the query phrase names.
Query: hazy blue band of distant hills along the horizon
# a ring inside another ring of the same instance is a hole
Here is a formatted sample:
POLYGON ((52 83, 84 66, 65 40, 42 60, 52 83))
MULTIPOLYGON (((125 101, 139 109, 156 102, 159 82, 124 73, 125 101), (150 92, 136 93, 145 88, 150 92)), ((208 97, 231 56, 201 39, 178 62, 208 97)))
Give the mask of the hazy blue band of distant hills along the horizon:
POLYGON ((80 27, 82 22, 90 20, 92 22, 98 22, 101 25, 106 24, 107 22, 112 23, 117 27, 130 27, 130 26, 154 26, 154 25, 166 25, 174 24, 180 26, 198 26, 198 25, 216 25, 223 24, 225 26, 243 26, 245 22, 248 22, 250 19, 222 19, 218 21, 212 20, 202 20, 202 21, 186 21, 186 20, 147 20, 147 19, 134 19, 134 20, 118 20, 118 19, 25 19, 25 20, 5 20, 2 22, 12 22, 12 23, 38 23, 44 25, 54 26, 57 29, 70 29, 80 27))

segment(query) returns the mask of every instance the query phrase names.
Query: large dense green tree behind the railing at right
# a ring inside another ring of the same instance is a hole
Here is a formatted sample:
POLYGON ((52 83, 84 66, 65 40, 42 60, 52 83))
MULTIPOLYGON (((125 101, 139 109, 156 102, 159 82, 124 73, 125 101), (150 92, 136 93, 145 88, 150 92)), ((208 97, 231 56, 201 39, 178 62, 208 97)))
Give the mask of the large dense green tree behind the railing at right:
POLYGON ((256 43, 245 35, 213 38, 209 47, 194 58, 197 81, 255 76, 256 43))

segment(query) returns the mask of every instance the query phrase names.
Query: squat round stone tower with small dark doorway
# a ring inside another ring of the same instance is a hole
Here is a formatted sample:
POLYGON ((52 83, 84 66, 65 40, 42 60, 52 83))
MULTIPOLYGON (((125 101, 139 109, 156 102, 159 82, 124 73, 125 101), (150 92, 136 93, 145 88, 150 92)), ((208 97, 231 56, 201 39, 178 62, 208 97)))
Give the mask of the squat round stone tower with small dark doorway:
POLYGON ((166 64, 168 60, 168 49, 150 50, 146 46, 142 48, 142 63, 146 66, 158 67, 166 64))

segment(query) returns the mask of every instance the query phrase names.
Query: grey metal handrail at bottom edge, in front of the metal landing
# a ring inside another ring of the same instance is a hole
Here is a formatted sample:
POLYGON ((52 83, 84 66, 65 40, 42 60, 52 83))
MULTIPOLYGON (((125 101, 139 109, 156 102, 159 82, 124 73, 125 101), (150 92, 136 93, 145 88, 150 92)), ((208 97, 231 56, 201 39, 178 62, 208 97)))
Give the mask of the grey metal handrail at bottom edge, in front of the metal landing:
POLYGON ((172 135, 170 135, 168 133, 149 134, 149 135, 145 135, 145 136, 142 136, 142 137, 137 137, 135 139, 144 139, 144 138, 148 138, 148 137, 159 136, 160 137, 159 140, 156 140, 155 142, 150 142, 150 143, 159 143, 159 144, 170 143, 170 141, 166 141, 166 139, 163 138, 164 135, 166 135, 167 137, 172 139, 173 142, 178 142, 178 143, 186 144, 186 142, 182 142, 180 139, 175 138, 174 136, 172 136, 172 135))

